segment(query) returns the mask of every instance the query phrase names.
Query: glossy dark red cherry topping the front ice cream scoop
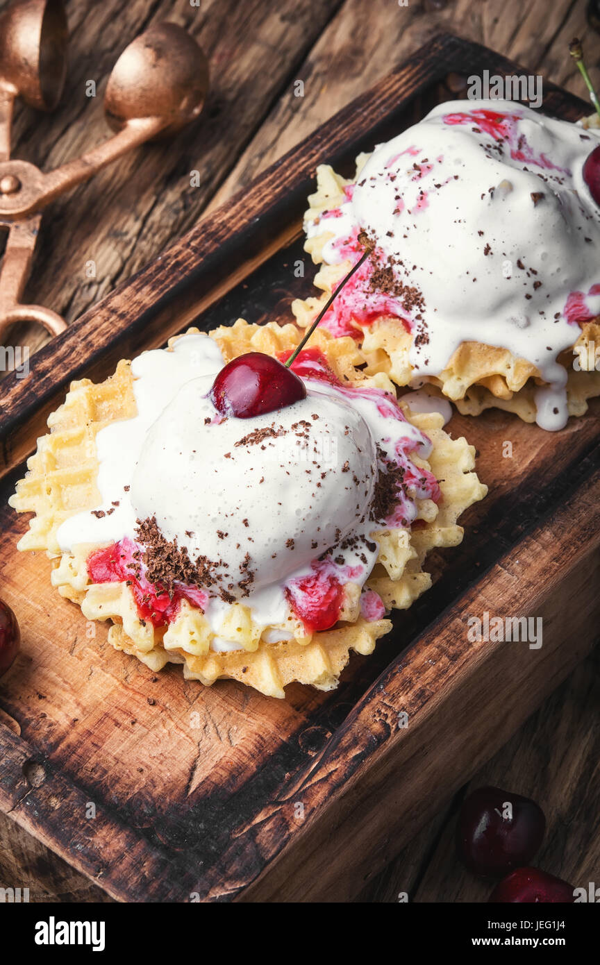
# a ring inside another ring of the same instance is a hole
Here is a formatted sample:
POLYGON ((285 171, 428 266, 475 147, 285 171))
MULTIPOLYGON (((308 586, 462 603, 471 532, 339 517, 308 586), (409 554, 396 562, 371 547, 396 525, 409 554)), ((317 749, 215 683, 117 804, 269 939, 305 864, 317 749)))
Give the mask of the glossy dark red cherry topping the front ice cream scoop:
POLYGON ((250 419, 306 399, 304 382, 282 362, 262 352, 232 359, 215 378, 210 400, 224 416, 250 419))

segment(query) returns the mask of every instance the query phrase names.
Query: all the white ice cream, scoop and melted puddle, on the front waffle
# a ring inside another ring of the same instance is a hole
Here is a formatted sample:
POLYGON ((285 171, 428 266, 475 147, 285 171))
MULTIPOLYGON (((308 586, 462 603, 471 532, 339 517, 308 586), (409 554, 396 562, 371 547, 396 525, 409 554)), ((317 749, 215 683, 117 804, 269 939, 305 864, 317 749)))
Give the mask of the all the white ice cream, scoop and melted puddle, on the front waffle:
MULTIPOLYGON (((289 599, 300 597, 307 579, 363 587, 378 552, 371 533, 409 526, 415 499, 437 499, 439 488, 411 461, 415 452, 426 457, 430 443, 395 400, 378 389, 339 385, 319 354, 305 351, 294 363, 307 385, 305 400, 245 420, 223 419, 207 398, 224 360, 206 335, 189 334, 171 351, 134 359, 138 414, 97 433, 101 502, 62 524, 61 549, 118 543, 121 559, 130 559, 141 545, 138 521, 155 517, 192 561, 223 560, 227 566, 212 570, 217 585, 191 593, 179 585, 181 596, 204 610, 214 649, 239 648, 221 634, 231 599, 250 607, 260 624, 285 624, 289 599), (373 521, 375 481, 391 465, 401 469, 405 487, 392 515, 373 521)), ((368 619, 382 615, 375 596, 368 592, 364 601, 368 619)), ((278 628, 268 639, 289 636, 278 628)))

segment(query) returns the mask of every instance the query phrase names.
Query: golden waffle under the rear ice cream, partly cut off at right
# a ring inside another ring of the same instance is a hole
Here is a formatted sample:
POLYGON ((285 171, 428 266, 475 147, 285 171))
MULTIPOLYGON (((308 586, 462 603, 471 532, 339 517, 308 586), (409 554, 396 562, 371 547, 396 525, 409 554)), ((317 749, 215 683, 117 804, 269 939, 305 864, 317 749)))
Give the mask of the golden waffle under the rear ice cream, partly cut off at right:
MULTIPOLYGON (((593 119, 586 122, 595 126, 593 119)), ((356 161, 356 175, 359 175, 368 160, 368 154, 360 154, 356 161)), ((343 189, 353 183, 341 178, 329 165, 322 164, 316 169, 316 192, 309 197, 309 208, 305 214, 308 222, 323 211, 339 207, 345 201, 343 189)), ((314 286, 321 291, 318 297, 297 298, 291 309, 301 328, 306 328, 323 308, 332 292, 344 278, 352 262, 344 261, 329 265, 324 263, 323 246, 332 237, 329 232, 307 238, 305 250, 315 264, 321 267, 314 276, 314 286)), ((354 322, 357 342, 365 357, 366 372, 374 374, 385 372, 396 385, 411 383, 413 369, 409 358, 412 336, 403 328, 397 318, 379 317, 368 325, 354 322)), ((598 320, 586 322, 581 335, 573 345, 573 352, 563 353, 559 362, 569 372, 567 386, 567 407, 569 415, 581 416, 586 412, 587 400, 600 396, 600 372, 591 368, 586 371, 586 362, 581 372, 573 369, 574 352, 589 343, 600 345, 600 325, 598 320)), ((583 353, 582 358, 586 359, 583 353)), ((505 348, 466 342, 456 349, 443 372, 426 379, 440 394, 450 399, 463 415, 478 415, 486 408, 495 407, 513 412, 525 422, 535 421, 533 393, 542 383, 537 369, 525 359, 516 358, 505 348)))

